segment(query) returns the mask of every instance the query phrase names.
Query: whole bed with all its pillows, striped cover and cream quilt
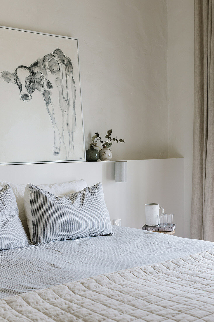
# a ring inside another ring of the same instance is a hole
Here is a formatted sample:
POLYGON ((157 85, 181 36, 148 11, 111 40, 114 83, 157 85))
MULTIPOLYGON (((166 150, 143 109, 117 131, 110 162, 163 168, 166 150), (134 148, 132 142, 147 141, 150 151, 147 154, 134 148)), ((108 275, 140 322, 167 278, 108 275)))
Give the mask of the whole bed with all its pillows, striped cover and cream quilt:
POLYGON ((0 190, 0 322, 214 321, 214 243, 112 226, 101 183, 0 190))

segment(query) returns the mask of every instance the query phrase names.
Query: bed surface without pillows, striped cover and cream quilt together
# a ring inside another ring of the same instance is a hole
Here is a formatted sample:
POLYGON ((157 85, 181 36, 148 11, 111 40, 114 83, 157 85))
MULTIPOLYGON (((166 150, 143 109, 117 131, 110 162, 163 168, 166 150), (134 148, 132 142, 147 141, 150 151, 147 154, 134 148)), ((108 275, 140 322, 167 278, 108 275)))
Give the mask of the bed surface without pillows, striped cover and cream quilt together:
POLYGON ((0 321, 198 321, 199 296, 207 298, 202 301, 201 321, 214 320, 214 243, 127 227, 112 229, 113 236, 0 251, 0 321), (184 290, 189 280, 197 285, 200 271, 202 286, 193 290, 188 285, 184 290), (204 280, 209 289, 205 294, 204 280), (181 289, 185 294, 177 298, 181 289), (194 313, 188 314, 187 298, 194 313))

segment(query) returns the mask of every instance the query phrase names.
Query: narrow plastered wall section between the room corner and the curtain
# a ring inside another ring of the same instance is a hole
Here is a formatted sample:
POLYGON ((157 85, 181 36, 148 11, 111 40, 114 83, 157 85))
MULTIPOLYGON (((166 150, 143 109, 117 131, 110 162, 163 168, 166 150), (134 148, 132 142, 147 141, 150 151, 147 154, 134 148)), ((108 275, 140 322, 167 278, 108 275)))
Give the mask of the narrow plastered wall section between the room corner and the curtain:
POLYGON ((190 236, 192 197, 194 0, 168 0, 169 157, 184 157, 184 227, 190 236))

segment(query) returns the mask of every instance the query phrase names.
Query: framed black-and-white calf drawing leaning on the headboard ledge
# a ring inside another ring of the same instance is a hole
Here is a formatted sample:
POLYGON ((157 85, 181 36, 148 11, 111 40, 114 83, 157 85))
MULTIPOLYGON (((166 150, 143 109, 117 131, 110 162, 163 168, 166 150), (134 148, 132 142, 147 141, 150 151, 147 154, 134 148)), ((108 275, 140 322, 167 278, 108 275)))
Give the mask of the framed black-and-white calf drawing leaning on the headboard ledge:
POLYGON ((85 161, 77 39, 0 27, 0 164, 85 161))

